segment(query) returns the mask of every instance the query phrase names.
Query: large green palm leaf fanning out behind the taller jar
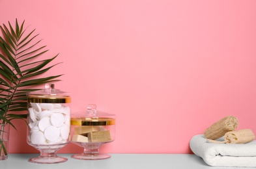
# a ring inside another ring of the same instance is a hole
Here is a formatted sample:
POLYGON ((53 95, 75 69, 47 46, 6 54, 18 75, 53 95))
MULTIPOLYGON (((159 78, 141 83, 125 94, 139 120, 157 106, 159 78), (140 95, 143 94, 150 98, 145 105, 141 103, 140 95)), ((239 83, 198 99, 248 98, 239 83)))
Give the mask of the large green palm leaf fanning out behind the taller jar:
POLYGON ((60 81, 61 77, 61 74, 44 77, 44 73, 59 64, 50 65, 58 55, 40 60, 48 49, 46 45, 40 46, 41 40, 36 40, 39 34, 35 34, 35 29, 24 29, 24 23, 20 25, 16 19, 15 26, 10 21, 8 25, 0 25, 3 34, 0 36, 0 123, 9 123, 14 129, 12 120, 27 118, 27 92, 60 81))

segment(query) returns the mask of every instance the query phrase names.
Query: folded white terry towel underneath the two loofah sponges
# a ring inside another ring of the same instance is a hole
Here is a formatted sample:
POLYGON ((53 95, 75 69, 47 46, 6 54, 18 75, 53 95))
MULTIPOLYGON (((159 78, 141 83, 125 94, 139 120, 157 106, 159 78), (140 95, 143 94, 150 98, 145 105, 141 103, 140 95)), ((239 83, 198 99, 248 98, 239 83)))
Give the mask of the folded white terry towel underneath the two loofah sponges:
POLYGON ((209 166, 256 167, 256 140, 246 144, 216 144, 206 142, 204 135, 195 135, 190 140, 190 149, 209 166))

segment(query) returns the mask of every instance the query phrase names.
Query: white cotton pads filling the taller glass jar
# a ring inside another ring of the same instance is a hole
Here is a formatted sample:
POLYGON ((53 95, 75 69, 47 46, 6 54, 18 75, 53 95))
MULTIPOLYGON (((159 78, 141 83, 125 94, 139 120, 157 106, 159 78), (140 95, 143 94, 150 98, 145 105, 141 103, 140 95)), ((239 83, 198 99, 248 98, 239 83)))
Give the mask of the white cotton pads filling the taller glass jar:
POLYGON ((31 144, 61 144, 70 135, 70 107, 61 103, 31 103, 29 107, 31 144))

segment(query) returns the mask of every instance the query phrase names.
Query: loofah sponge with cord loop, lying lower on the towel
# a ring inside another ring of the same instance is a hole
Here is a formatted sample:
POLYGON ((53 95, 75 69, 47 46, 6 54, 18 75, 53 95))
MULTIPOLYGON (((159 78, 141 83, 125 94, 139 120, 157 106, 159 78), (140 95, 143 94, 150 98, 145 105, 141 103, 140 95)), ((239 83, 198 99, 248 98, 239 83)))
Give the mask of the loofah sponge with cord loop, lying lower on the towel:
POLYGON ((224 141, 210 140, 212 143, 227 143, 227 144, 245 144, 255 139, 255 135, 251 129, 240 129, 237 131, 229 131, 224 135, 224 141))

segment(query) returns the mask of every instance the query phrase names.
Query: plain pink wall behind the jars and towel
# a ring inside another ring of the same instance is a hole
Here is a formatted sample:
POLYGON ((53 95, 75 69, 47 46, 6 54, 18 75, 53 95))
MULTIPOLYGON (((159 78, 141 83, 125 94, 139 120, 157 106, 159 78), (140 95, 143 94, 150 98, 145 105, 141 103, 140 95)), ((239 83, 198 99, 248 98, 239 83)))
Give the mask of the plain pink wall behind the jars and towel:
MULTIPOLYGON (((223 116, 256 133, 256 1, 1 0, 0 23, 25 19, 63 62, 56 88, 72 113, 95 103, 117 115, 107 153, 191 153, 223 116)), ((43 86, 42 86, 43 87, 43 86)), ((38 153, 15 122, 10 153, 38 153)), ((81 152, 74 144, 59 153, 81 152)))

